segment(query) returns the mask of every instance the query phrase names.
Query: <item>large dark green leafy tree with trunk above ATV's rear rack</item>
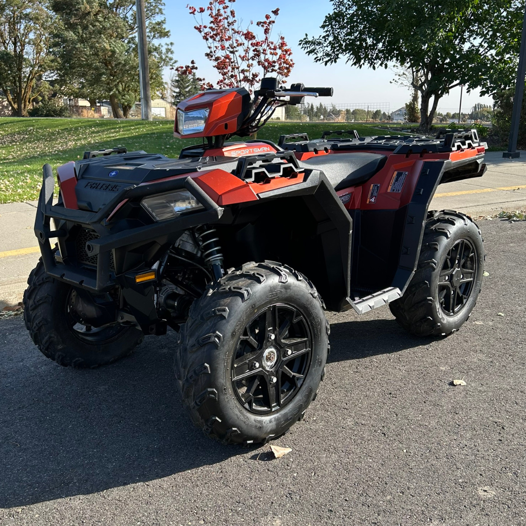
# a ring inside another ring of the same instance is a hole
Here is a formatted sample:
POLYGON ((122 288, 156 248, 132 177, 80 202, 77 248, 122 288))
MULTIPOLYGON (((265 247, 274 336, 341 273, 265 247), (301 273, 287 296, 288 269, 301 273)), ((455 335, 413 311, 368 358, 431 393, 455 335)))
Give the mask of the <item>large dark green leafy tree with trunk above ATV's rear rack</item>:
POLYGON ((345 58, 353 66, 387 68, 396 63, 410 72, 420 93, 420 127, 429 129, 438 102, 458 86, 477 87, 473 64, 489 60, 481 46, 495 20, 511 0, 332 0, 323 35, 301 39, 300 46, 316 62, 345 58), (431 105, 431 107, 430 107, 431 105))

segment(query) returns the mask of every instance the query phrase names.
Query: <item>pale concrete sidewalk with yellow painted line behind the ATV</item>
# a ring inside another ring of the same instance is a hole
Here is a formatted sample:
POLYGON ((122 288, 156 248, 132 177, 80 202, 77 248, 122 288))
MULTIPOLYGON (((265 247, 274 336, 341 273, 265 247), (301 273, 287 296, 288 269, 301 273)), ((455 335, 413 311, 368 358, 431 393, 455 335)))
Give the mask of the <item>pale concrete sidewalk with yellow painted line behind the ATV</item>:
MULTIPOLYGON (((526 209, 526 151, 519 159, 486 154, 484 177, 441 185, 431 209, 452 209, 472 217, 526 209)), ((0 205, 0 309, 22 300, 27 276, 39 258, 33 232, 36 201, 0 205)))

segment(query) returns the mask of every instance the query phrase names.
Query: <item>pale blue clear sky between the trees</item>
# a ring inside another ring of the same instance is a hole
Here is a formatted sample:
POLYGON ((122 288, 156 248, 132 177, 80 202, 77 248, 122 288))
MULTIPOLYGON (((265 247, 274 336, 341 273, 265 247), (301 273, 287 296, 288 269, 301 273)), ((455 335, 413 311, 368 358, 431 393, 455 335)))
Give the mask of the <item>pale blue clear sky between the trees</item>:
MULTIPOLYGON (((165 7, 166 25, 171 32, 170 40, 174 42, 175 58, 178 64, 189 64, 195 60, 201 77, 210 82, 217 79, 216 70, 205 58, 206 45, 199 33, 194 29, 194 18, 188 14, 187 0, 168 0, 165 7)), ((192 0, 190 5, 195 7, 208 5, 206 0, 192 0)), ((311 57, 299 47, 299 40, 307 33, 318 36, 319 28, 325 15, 332 11, 329 0, 275 0, 274 2, 256 2, 255 0, 237 0, 233 7, 238 19, 245 24, 251 20, 256 22, 266 13, 276 7, 280 13, 273 29, 273 34, 281 33, 292 49, 292 58, 296 63, 289 82, 302 82, 306 86, 332 86, 334 96, 318 98, 321 102, 335 104, 356 103, 389 103, 391 112, 403 106, 410 99, 409 89, 391 84, 395 77, 391 69, 358 69, 340 61, 335 65, 323 66, 315 64, 311 57)), ((254 24, 255 26, 255 24, 254 24)), ((257 28, 256 28, 257 29, 257 28)), ((439 103, 439 110, 444 113, 458 112, 460 88, 451 90, 449 96, 443 97, 439 103)), ((462 96, 462 110, 467 112, 474 104, 481 102, 492 104, 491 98, 481 98, 478 92, 462 96)))

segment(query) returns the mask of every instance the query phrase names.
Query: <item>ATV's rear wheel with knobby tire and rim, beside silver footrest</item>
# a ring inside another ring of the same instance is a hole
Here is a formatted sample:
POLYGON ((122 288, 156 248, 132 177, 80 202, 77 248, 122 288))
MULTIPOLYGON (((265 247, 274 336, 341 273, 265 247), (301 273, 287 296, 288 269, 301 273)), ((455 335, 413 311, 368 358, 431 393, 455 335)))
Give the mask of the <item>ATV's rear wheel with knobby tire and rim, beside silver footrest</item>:
POLYGON ((448 336, 469 318, 479 296, 484 246, 479 227, 458 212, 430 211, 417 270, 404 295, 389 304, 417 336, 448 336))

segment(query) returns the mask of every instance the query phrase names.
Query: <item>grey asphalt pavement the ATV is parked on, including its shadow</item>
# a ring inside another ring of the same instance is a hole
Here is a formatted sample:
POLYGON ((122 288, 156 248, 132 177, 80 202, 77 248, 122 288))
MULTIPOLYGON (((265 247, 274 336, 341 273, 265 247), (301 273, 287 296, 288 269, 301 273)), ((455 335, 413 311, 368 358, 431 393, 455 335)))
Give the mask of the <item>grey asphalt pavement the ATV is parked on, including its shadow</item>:
POLYGON ((0 321, 0 524, 526 524, 526 222, 481 227, 490 275, 460 332, 329 315, 326 379, 277 460, 191 426, 174 333, 75 371, 0 321))

